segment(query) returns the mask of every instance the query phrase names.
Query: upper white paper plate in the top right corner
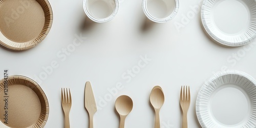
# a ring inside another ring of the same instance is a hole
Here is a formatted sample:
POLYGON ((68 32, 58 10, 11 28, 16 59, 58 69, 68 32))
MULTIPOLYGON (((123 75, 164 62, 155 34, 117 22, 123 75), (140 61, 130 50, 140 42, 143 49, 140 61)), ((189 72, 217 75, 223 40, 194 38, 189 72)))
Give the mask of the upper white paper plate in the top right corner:
POLYGON ((254 0, 204 0, 201 18, 206 32, 226 46, 243 46, 256 36, 254 0))

